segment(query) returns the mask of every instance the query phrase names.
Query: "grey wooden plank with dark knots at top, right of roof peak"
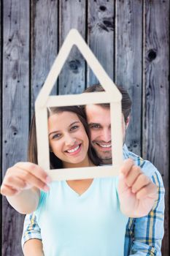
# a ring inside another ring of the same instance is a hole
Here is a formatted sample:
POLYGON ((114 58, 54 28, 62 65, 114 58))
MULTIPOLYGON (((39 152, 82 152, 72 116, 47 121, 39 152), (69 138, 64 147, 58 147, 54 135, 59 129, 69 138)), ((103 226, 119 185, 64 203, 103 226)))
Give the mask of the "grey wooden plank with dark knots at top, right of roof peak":
MULTIPOLYGON (((98 61, 113 79, 114 56, 114 1, 88 1, 88 45, 98 61)), ((87 85, 98 83, 88 67, 87 85)))

